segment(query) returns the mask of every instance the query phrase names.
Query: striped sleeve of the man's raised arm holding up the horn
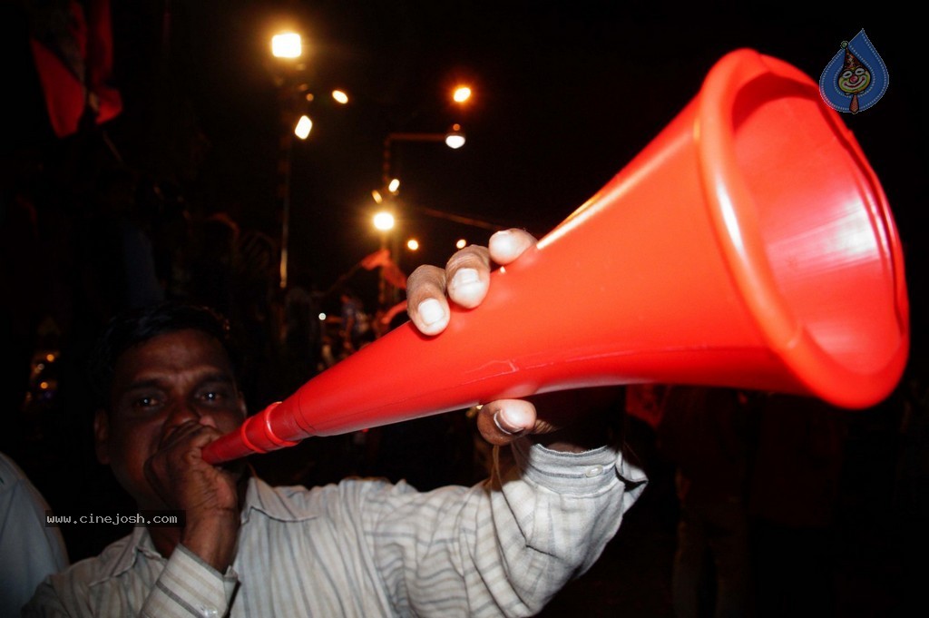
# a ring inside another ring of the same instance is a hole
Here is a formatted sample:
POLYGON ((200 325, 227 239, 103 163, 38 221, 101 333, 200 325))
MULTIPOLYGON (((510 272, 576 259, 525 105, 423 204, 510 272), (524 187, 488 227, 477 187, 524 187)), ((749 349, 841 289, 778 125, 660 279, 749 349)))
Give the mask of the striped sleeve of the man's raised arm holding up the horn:
POLYGON ((402 614, 530 616, 586 572, 645 476, 611 447, 582 454, 517 440, 472 488, 378 497, 374 562, 402 614))

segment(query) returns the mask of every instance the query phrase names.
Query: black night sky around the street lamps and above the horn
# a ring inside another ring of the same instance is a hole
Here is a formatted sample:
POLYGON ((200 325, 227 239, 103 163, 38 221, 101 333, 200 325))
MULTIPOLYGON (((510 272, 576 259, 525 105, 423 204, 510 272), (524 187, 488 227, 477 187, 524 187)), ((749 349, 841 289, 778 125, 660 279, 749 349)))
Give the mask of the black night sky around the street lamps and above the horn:
POLYGON ((415 214, 415 206, 541 236, 645 147, 726 52, 752 47, 818 79, 839 43, 864 28, 890 86, 873 108, 844 120, 882 180, 910 252, 911 287, 923 295, 923 278, 912 271, 925 261, 929 96, 919 71, 920 21, 903 11, 811 12, 810 3, 783 2, 674 10, 581 1, 115 4, 117 80, 126 100, 111 127, 117 146, 138 164, 160 152, 159 132, 186 123, 179 108, 144 138, 125 127, 159 117, 156 103, 170 90, 189 101, 211 144, 196 183, 204 207, 275 236, 280 118, 268 37, 282 17, 296 20, 309 41, 307 81, 320 96, 308 108, 314 132, 293 151, 292 270, 321 287, 378 246, 370 193, 380 184, 388 131, 437 132, 458 120, 468 136, 460 151, 395 147, 402 204, 409 204, 402 223, 424 244, 420 256, 402 257, 409 271, 443 261, 458 236, 482 243, 489 233, 415 214), (164 7, 171 9, 169 46, 164 7), (161 73, 160 63, 168 67, 161 73), (457 78, 472 83, 475 97, 452 115, 444 98, 457 78), (334 109, 325 98, 334 85, 359 101, 334 109))

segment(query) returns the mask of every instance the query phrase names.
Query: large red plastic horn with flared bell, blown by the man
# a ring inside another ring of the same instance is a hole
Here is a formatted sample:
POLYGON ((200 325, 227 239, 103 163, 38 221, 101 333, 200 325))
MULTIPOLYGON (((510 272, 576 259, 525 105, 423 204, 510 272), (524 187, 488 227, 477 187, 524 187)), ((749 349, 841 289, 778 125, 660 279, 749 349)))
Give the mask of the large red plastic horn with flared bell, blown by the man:
POLYGON ((743 49, 634 161, 491 274, 209 444, 217 463, 480 402, 657 382, 882 401, 909 353, 883 190, 818 85, 743 49))

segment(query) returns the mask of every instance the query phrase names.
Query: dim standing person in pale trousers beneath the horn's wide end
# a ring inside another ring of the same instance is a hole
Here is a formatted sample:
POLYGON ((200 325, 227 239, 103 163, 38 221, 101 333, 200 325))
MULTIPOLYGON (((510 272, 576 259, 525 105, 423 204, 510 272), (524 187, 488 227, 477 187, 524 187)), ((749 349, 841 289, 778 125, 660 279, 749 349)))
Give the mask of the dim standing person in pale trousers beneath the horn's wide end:
POLYGON ((752 615, 746 505, 752 418, 728 388, 671 387, 658 446, 680 505, 672 589, 678 618, 752 615))

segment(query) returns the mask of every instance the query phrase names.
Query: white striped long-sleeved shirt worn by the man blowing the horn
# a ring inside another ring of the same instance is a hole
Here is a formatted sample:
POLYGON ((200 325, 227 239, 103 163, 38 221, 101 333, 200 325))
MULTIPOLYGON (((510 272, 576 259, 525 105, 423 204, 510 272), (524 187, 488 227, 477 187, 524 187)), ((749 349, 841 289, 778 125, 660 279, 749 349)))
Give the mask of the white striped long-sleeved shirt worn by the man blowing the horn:
POLYGON ((239 546, 217 572, 147 529, 51 575, 25 616, 528 616, 586 572, 645 487, 611 447, 517 440, 491 479, 420 493, 344 480, 249 480, 239 546), (504 462, 504 460, 506 460, 504 462))

